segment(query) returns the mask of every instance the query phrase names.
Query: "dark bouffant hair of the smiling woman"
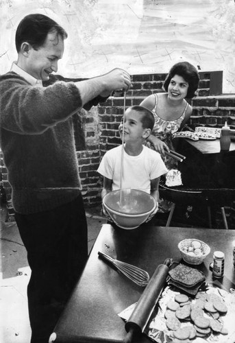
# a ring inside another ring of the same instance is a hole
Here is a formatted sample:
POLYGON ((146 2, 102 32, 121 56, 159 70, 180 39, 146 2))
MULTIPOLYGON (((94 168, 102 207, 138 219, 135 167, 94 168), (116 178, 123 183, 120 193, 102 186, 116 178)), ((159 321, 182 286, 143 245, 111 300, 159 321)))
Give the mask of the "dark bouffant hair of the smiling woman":
POLYGON ((199 84, 199 73, 197 72, 197 69, 193 67, 193 64, 190 64, 189 62, 179 62, 173 65, 171 67, 171 70, 169 71, 169 74, 166 76, 166 80, 164 81, 164 90, 168 91, 169 83, 171 82, 171 79, 175 76, 179 75, 186 82, 188 82, 188 93, 186 97, 188 99, 191 99, 192 97, 195 97, 197 94, 195 91, 197 91, 198 84, 199 84))

